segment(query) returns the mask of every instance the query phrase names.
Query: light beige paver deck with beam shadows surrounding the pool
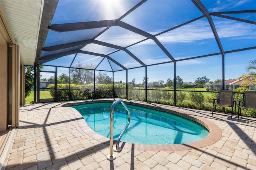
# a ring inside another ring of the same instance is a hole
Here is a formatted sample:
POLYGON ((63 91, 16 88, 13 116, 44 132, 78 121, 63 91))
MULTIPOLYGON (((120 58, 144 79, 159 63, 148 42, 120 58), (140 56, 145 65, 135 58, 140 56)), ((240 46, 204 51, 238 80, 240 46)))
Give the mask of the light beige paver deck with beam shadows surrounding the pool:
MULTIPOLYGON (((109 145, 104 138, 87 132, 64 102, 29 104, 21 108, 20 126, 13 129, 12 142, 2 170, 166 170, 166 169, 256 169, 256 119, 236 118, 223 113, 171 107, 175 111, 202 117, 217 125, 220 140, 208 146, 152 151, 131 146, 114 152, 108 160, 109 145)), ((121 145, 121 144, 120 144, 121 145)))

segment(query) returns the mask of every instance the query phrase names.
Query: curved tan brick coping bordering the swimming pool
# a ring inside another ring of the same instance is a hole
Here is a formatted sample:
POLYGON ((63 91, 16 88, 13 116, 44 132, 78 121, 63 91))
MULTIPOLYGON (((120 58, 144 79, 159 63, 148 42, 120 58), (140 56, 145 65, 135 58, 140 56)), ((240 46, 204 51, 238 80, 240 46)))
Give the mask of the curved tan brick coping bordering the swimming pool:
MULTIPOLYGON (((72 101, 72 102, 66 102, 62 105, 62 107, 70 106, 70 105, 81 105, 81 104, 86 104, 86 103, 100 103, 100 102, 114 102, 118 100, 117 98, 111 98, 111 99, 94 99, 94 100, 86 100, 86 101, 72 101)), ((144 151, 176 151, 176 150, 190 150, 190 149, 196 149, 196 148, 202 148, 206 146, 210 146, 220 140, 222 136, 222 131, 221 129, 215 125, 212 121, 209 121, 205 118, 199 117, 194 115, 193 111, 189 110, 183 110, 178 107, 174 106, 168 106, 168 105, 161 105, 161 104, 156 104, 156 103, 146 103, 142 101, 132 101, 132 100, 126 100, 122 99, 124 103, 128 103, 130 105, 137 105, 137 106, 146 106, 152 109, 157 109, 157 110, 162 110, 166 112, 172 112, 176 115, 181 115, 185 118, 192 119, 194 121, 197 121, 204 125, 208 130, 209 134, 202 140, 198 140, 195 142, 189 142, 189 143, 184 143, 184 144, 132 144, 128 142, 122 142, 120 141, 119 146, 121 148, 126 148, 126 149, 133 149, 133 150, 144 150, 144 151)), ((110 145, 110 140, 109 138, 102 136, 101 134, 98 134, 94 130, 92 130, 86 123, 86 121, 83 119, 82 115, 74 108, 72 107, 66 107, 70 109, 76 116, 76 119, 78 121, 78 124, 80 128, 88 134, 90 137, 94 138, 98 142, 102 142, 104 144, 110 145)), ((116 140, 114 140, 114 145, 116 145, 116 140)))

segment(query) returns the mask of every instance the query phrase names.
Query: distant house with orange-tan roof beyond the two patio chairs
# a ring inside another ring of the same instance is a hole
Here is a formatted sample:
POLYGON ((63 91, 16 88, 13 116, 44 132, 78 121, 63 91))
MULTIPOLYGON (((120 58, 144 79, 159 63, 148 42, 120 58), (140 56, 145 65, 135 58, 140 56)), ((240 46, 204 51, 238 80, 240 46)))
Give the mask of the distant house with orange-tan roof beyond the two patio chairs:
MULTIPOLYGON (((239 80, 225 80, 225 90, 234 90, 241 87, 242 83, 244 83, 244 79, 239 80)), ((248 89, 255 90, 255 86, 247 87, 248 89)), ((220 83, 212 83, 210 84, 210 90, 219 90, 222 89, 222 82, 220 83)))

